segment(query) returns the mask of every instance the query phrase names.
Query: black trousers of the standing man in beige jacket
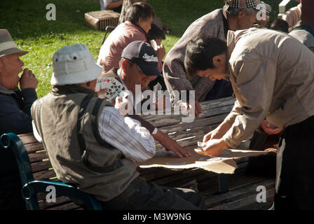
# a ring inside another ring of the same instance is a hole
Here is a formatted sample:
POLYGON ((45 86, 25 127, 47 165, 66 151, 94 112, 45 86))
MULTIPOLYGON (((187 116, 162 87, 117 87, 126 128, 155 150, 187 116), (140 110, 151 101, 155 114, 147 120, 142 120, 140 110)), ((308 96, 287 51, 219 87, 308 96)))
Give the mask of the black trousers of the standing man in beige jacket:
POLYGON ((275 209, 314 209, 314 116, 288 126, 277 153, 275 209))

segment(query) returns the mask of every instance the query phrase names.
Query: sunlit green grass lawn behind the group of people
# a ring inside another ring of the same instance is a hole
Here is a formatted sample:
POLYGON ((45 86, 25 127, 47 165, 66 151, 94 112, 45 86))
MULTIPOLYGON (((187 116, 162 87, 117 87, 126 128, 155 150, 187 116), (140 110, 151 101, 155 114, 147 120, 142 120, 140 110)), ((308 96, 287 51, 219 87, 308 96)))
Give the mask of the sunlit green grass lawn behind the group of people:
MULTIPOLYGON (((278 14, 281 0, 267 1, 273 7, 271 20, 278 14)), ((149 0, 156 15, 170 28, 163 41, 168 52, 185 29, 197 18, 224 5, 223 0, 149 0)), ((295 6, 291 3, 289 7, 295 6)), ((39 97, 50 92, 53 73, 52 57, 64 45, 83 43, 95 59, 101 47, 104 31, 85 25, 84 13, 100 10, 99 0, 1 0, 0 28, 8 29, 18 48, 28 50, 21 57, 25 68, 31 69, 39 79, 39 97), (46 5, 54 3, 56 20, 46 20, 46 5)))

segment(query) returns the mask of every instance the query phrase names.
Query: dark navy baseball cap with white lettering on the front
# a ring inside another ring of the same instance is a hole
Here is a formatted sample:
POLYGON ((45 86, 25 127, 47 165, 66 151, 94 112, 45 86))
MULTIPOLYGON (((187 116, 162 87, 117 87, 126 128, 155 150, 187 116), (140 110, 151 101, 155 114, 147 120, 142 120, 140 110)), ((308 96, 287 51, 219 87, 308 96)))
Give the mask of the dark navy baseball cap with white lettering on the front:
POLYGON ((153 47, 145 41, 133 41, 129 43, 121 54, 121 57, 129 59, 137 64, 139 70, 147 76, 162 76, 158 71, 158 57, 153 47))

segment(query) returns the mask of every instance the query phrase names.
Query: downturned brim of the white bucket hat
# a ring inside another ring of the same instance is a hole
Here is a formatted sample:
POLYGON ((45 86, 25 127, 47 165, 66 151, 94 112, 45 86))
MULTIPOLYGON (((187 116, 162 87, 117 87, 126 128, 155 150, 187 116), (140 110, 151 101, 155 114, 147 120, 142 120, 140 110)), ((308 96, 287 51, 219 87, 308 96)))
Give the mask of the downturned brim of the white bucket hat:
POLYGON ((95 66, 91 67, 88 71, 68 73, 58 76, 55 76, 55 73, 53 73, 50 83, 51 85, 71 85, 78 83, 87 83, 98 78, 98 76, 100 76, 100 73, 102 73, 102 66, 95 64, 95 66))

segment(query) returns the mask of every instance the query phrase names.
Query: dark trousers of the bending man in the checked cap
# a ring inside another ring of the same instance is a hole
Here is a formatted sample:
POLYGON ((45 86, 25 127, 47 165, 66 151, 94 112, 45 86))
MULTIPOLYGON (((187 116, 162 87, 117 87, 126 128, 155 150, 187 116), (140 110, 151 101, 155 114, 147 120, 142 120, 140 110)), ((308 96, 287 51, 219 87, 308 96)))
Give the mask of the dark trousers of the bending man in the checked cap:
POLYGON ((210 92, 207 93, 204 101, 231 97, 232 94, 233 89, 230 81, 224 79, 216 80, 210 92))

